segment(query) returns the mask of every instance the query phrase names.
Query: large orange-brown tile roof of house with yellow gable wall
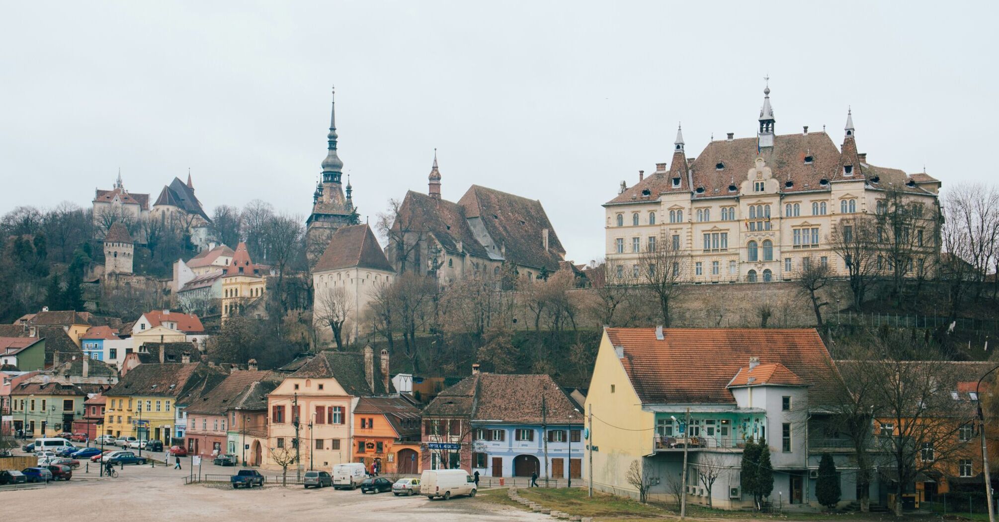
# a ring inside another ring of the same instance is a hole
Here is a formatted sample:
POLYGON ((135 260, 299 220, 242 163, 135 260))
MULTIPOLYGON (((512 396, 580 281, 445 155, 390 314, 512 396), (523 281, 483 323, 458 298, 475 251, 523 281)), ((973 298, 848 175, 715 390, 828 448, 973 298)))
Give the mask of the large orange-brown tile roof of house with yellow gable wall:
POLYGON ((834 400, 838 374, 814 329, 607 328, 612 345, 643 403, 733 404, 726 389, 750 357, 781 363, 810 386, 811 405, 834 400))

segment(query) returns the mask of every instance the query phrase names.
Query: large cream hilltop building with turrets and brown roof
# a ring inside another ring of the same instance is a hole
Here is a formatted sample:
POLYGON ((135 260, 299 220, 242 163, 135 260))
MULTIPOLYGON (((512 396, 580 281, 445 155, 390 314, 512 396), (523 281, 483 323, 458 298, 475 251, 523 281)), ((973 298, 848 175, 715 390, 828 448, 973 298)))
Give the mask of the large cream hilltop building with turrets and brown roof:
MULTIPOLYGON (((840 148, 824 130, 776 135, 769 87, 763 93, 756 136, 729 133, 688 158, 677 130, 668 166, 639 172, 632 187, 621 182, 603 204, 608 277, 637 276, 642 253, 656 248, 678 252, 671 262, 682 282, 788 280, 806 263, 846 275, 833 241, 847 232, 837 227, 882 210, 891 191, 922 203, 927 218, 939 215, 940 182, 868 163, 857 152, 852 115, 840 148)), ((939 250, 933 219, 915 234, 913 264, 922 267, 939 250)))

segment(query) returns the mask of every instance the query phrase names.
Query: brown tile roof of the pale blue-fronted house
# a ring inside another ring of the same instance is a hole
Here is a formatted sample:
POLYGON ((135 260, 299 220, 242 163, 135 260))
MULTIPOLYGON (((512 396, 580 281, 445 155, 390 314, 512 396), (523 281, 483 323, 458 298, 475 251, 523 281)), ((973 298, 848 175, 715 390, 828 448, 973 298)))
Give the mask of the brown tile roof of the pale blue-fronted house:
POLYGON ((434 398, 424 415, 471 416, 474 421, 582 423, 582 413, 548 375, 479 373, 434 398))

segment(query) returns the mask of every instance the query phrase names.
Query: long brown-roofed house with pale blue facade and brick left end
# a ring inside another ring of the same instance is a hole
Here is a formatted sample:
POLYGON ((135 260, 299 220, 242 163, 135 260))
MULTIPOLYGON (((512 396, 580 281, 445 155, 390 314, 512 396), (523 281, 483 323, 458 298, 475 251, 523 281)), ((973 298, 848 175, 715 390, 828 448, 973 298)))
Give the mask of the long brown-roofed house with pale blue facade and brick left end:
POLYGON ((428 405, 424 424, 425 469, 461 467, 484 477, 536 473, 539 481, 581 476, 582 407, 547 375, 474 373, 428 405), (449 451, 439 439, 461 450, 449 451))

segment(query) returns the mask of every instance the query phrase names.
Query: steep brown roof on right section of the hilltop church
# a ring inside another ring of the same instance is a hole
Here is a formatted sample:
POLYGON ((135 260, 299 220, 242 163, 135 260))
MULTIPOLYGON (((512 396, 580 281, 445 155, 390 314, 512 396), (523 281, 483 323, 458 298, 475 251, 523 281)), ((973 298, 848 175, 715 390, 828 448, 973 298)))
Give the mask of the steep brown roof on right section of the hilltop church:
POLYGON ((479 218, 493 241, 505 247, 507 260, 551 272, 558 270, 565 249, 540 201, 473 185, 458 204, 465 208, 466 218, 479 218), (544 229, 548 231, 547 250, 542 239, 544 229))

